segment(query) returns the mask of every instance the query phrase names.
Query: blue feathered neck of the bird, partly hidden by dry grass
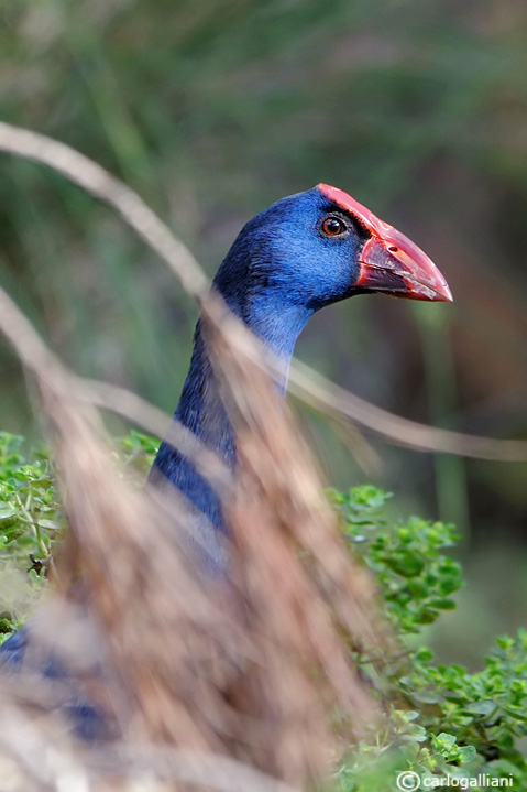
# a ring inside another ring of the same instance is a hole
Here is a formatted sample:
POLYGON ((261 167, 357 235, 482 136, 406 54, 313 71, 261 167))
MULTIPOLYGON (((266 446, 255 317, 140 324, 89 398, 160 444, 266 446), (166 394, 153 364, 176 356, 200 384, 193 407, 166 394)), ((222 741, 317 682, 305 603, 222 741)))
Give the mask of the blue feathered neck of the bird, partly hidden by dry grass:
MULTIPOLYGON (((240 296, 234 295, 233 299, 231 294, 226 301, 229 307, 283 360, 284 378, 278 382, 278 388, 285 393, 295 341, 311 311, 295 305, 281 305, 278 308, 276 294, 273 300, 273 293, 265 296, 245 294, 243 299, 238 299, 240 296)), ((194 432, 206 446, 217 452, 229 466, 234 465, 233 432, 219 397, 218 383, 201 333, 201 322, 196 326, 190 369, 175 417, 194 432)), ((201 539, 207 546, 213 544, 210 524, 216 531, 224 533, 217 495, 182 454, 166 443, 162 443, 152 468, 151 481, 163 485, 167 480, 176 485, 199 512, 205 514, 209 528, 200 531, 204 533, 201 539)), ((215 555, 213 549, 211 554, 215 555)))

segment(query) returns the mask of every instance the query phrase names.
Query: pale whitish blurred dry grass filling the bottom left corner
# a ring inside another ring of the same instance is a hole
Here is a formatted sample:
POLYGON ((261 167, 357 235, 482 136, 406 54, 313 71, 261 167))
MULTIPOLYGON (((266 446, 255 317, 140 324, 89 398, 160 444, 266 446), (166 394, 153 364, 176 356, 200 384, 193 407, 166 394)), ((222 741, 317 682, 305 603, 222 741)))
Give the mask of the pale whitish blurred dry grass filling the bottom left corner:
POLYGON ((79 756, 61 734, 51 745, 51 733, 32 722, 12 684, 0 683, 0 693, 2 792, 174 792, 187 785, 210 792, 299 792, 217 753, 131 742, 79 756))

